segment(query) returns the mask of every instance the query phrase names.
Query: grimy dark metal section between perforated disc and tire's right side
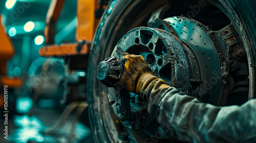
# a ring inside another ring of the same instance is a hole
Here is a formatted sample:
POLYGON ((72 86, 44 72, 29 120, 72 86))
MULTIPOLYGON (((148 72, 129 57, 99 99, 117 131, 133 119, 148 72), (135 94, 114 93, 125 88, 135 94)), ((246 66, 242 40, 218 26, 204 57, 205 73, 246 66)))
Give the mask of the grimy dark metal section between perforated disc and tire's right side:
POLYGON ((249 67, 245 48, 232 24, 220 31, 213 32, 213 37, 218 40, 217 48, 222 51, 221 77, 222 93, 220 105, 241 105, 251 98, 249 94, 249 67))

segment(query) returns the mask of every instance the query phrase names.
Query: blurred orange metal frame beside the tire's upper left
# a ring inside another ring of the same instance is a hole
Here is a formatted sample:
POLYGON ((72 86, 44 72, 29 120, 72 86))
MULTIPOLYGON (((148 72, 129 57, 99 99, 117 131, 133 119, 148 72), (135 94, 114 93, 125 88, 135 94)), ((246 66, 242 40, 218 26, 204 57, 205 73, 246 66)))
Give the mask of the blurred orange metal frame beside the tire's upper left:
POLYGON ((46 19, 45 37, 47 45, 39 49, 39 55, 44 57, 87 55, 99 22, 99 19, 95 18, 95 10, 99 8, 97 3, 97 0, 77 0, 76 41, 85 41, 80 50, 77 50, 78 43, 53 44, 55 25, 64 4, 63 0, 53 0, 46 19))

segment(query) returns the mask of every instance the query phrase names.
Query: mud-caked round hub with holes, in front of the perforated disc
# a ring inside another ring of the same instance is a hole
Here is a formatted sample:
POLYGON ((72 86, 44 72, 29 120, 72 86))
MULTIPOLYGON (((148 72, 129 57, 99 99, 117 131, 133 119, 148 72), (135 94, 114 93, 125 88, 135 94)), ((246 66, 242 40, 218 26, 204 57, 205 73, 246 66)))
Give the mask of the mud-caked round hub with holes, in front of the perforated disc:
MULTIPOLYGON (((119 40, 112 56, 120 58, 123 52, 141 55, 146 59, 155 76, 163 79, 166 84, 188 93, 190 87, 188 59, 182 45, 172 34, 161 29, 135 28, 119 40)), ((112 96, 109 94, 110 99, 113 99, 112 96)), ((154 122, 149 114, 144 113, 147 104, 140 96, 130 93, 130 104, 134 117, 130 121, 121 120, 125 127, 139 130, 154 122)), ((114 104, 113 109, 118 116, 115 107, 118 109, 117 103, 114 104)))

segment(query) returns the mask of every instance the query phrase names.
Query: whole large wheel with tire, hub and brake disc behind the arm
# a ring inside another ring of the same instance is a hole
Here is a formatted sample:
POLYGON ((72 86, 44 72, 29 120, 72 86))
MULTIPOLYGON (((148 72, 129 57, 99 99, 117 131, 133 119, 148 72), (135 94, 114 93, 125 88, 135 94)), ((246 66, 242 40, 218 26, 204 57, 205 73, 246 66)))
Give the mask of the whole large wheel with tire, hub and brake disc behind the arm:
MULTIPOLYGON (((232 0, 110 2, 93 40, 88 70, 95 142, 177 142, 156 134, 161 132, 157 124, 136 130, 118 120, 113 89, 95 77, 97 64, 111 55, 142 55, 156 76, 203 102, 241 105, 254 98, 254 9, 251 1, 232 0)), ((131 94, 134 103, 139 104, 133 108, 144 105, 131 94)))

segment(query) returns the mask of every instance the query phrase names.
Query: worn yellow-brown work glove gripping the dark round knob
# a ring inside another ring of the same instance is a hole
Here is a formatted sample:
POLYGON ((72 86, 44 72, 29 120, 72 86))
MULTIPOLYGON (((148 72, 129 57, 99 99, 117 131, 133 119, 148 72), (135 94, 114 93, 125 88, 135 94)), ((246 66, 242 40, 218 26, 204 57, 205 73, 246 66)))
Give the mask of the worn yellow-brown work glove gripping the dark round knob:
POLYGON ((142 77, 147 79, 148 77, 153 76, 151 68, 148 67, 146 60, 144 60, 141 55, 123 53, 120 60, 124 63, 124 72, 119 81, 120 84, 123 84, 125 90, 139 94, 137 92, 140 91, 142 86, 142 83, 139 81, 144 81, 140 80, 142 77))

